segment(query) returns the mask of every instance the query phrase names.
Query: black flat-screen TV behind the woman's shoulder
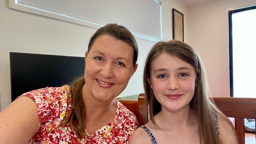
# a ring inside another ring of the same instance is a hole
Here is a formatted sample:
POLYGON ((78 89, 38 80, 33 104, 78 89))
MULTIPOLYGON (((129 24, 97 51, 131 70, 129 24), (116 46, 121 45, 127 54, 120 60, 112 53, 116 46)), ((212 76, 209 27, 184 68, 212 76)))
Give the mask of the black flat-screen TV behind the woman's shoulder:
POLYGON ((10 52, 12 102, 28 91, 68 84, 84 74, 84 57, 10 52))

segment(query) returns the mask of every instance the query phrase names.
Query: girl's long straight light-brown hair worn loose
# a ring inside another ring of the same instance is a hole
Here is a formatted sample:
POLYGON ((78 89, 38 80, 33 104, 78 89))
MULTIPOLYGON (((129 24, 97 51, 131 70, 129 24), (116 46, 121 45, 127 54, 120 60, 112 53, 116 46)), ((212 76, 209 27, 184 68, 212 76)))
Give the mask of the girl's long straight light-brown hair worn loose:
MULTIPOLYGON (((233 124, 214 104, 207 82, 206 71, 200 56, 192 47, 184 42, 177 40, 157 42, 148 53, 144 67, 143 84, 145 103, 149 105, 149 120, 157 126, 154 120, 154 115, 161 111, 161 104, 155 98, 153 90, 148 83, 148 78, 150 78, 150 67, 152 62, 162 53, 176 56, 195 68, 197 83, 194 96, 190 101, 190 108, 192 112, 195 113, 198 121, 200 143, 221 144, 222 142, 216 132, 213 115, 219 114, 225 118, 230 125, 233 124)), ((144 122, 146 122, 145 120, 144 122)), ((234 128, 233 130, 235 132, 234 128)))

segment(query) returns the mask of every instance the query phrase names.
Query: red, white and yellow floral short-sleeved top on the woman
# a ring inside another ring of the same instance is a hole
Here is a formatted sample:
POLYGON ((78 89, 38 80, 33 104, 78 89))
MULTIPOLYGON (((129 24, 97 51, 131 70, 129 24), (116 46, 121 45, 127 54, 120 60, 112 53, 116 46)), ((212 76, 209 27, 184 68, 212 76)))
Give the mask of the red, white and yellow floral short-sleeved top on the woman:
POLYGON ((27 92, 22 96, 33 99, 39 113, 39 127, 29 141, 30 144, 127 144, 129 136, 138 128, 135 115, 116 101, 114 122, 103 126, 92 135, 85 130, 87 136, 78 141, 75 131, 69 124, 60 126, 63 118, 71 110, 68 100, 71 99, 69 86, 46 87, 27 92))

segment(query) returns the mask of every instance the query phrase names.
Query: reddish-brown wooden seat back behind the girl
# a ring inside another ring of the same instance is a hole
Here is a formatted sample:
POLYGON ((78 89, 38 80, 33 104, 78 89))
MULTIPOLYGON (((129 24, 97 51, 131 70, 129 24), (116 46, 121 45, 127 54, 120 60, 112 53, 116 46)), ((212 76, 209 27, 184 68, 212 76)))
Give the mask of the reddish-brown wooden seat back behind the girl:
MULTIPOLYGON (((118 99, 136 115, 139 125, 144 124, 143 117, 147 118, 144 97, 144 93, 141 93, 138 100, 118 99)), ((240 144, 245 144, 244 118, 256 119, 256 98, 213 97, 213 100, 227 117, 235 118, 238 141, 240 144)))

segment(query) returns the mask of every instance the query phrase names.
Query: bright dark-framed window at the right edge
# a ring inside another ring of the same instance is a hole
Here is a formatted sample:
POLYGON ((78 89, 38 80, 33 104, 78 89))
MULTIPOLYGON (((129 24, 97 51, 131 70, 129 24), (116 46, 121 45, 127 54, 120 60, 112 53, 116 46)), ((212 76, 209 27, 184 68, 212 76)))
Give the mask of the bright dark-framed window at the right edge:
POLYGON ((256 6, 229 11, 230 96, 256 97, 256 6))

